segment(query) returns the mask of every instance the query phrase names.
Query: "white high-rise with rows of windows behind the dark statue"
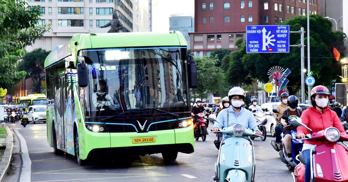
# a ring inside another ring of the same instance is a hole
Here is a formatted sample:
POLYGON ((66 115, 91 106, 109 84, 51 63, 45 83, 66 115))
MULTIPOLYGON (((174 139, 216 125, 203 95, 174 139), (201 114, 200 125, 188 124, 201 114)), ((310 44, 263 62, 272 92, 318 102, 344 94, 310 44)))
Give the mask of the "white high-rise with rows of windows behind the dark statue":
POLYGON ((110 27, 100 28, 117 11, 124 26, 122 32, 133 32, 133 0, 27 0, 29 6, 42 7, 38 24, 52 24, 52 30, 35 40, 27 51, 36 48, 52 50, 65 45, 75 33, 106 33, 110 27))

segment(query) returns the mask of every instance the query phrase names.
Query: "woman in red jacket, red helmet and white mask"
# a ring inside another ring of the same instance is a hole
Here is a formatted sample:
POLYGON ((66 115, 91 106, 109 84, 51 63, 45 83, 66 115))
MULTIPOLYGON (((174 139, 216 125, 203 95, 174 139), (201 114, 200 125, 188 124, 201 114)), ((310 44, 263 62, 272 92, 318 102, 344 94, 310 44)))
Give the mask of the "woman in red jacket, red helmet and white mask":
MULTIPOLYGON (((312 129, 313 132, 319 132, 328 127, 335 127, 341 133, 345 133, 336 112, 327 107, 330 95, 329 89, 325 86, 319 85, 314 87, 310 94, 312 107, 303 111, 301 115, 302 123, 312 129)), ((297 137, 299 139, 304 139, 306 134, 310 134, 307 128, 303 126, 297 128, 297 137)), ((305 182, 310 182, 310 149, 320 143, 321 142, 306 140, 303 144, 302 156, 306 161, 306 170, 304 172, 305 182)))

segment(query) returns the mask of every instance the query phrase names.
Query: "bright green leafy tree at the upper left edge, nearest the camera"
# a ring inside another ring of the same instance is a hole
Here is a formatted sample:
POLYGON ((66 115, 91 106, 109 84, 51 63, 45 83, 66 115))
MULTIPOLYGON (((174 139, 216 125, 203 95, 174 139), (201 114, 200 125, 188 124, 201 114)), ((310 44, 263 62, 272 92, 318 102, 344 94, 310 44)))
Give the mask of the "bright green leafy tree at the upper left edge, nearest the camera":
POLYGON ((40 16, 40 6, 0 0, 0 87, 11 87, 25 77, 26 72, 17 68, 24 47, 49 30, 47 25, 35 25, 40 16))

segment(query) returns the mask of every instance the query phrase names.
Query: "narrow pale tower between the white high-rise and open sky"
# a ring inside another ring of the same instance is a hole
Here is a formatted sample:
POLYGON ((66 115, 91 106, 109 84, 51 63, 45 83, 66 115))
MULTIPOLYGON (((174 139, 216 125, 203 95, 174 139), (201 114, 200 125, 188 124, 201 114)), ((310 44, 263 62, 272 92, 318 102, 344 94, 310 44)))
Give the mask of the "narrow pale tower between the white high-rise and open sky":
POLYGON ((133 32, 151 32, 152 0, 133 0, 133 32))

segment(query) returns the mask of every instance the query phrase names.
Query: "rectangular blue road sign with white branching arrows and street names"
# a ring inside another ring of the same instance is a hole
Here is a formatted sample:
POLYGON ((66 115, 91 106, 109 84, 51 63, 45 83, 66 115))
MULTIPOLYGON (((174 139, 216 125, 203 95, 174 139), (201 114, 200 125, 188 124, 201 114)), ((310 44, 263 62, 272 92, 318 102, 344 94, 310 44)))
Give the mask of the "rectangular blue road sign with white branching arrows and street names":
POLYGON ((288 53, 289 25, 246 26, 246 53, 288 53))

